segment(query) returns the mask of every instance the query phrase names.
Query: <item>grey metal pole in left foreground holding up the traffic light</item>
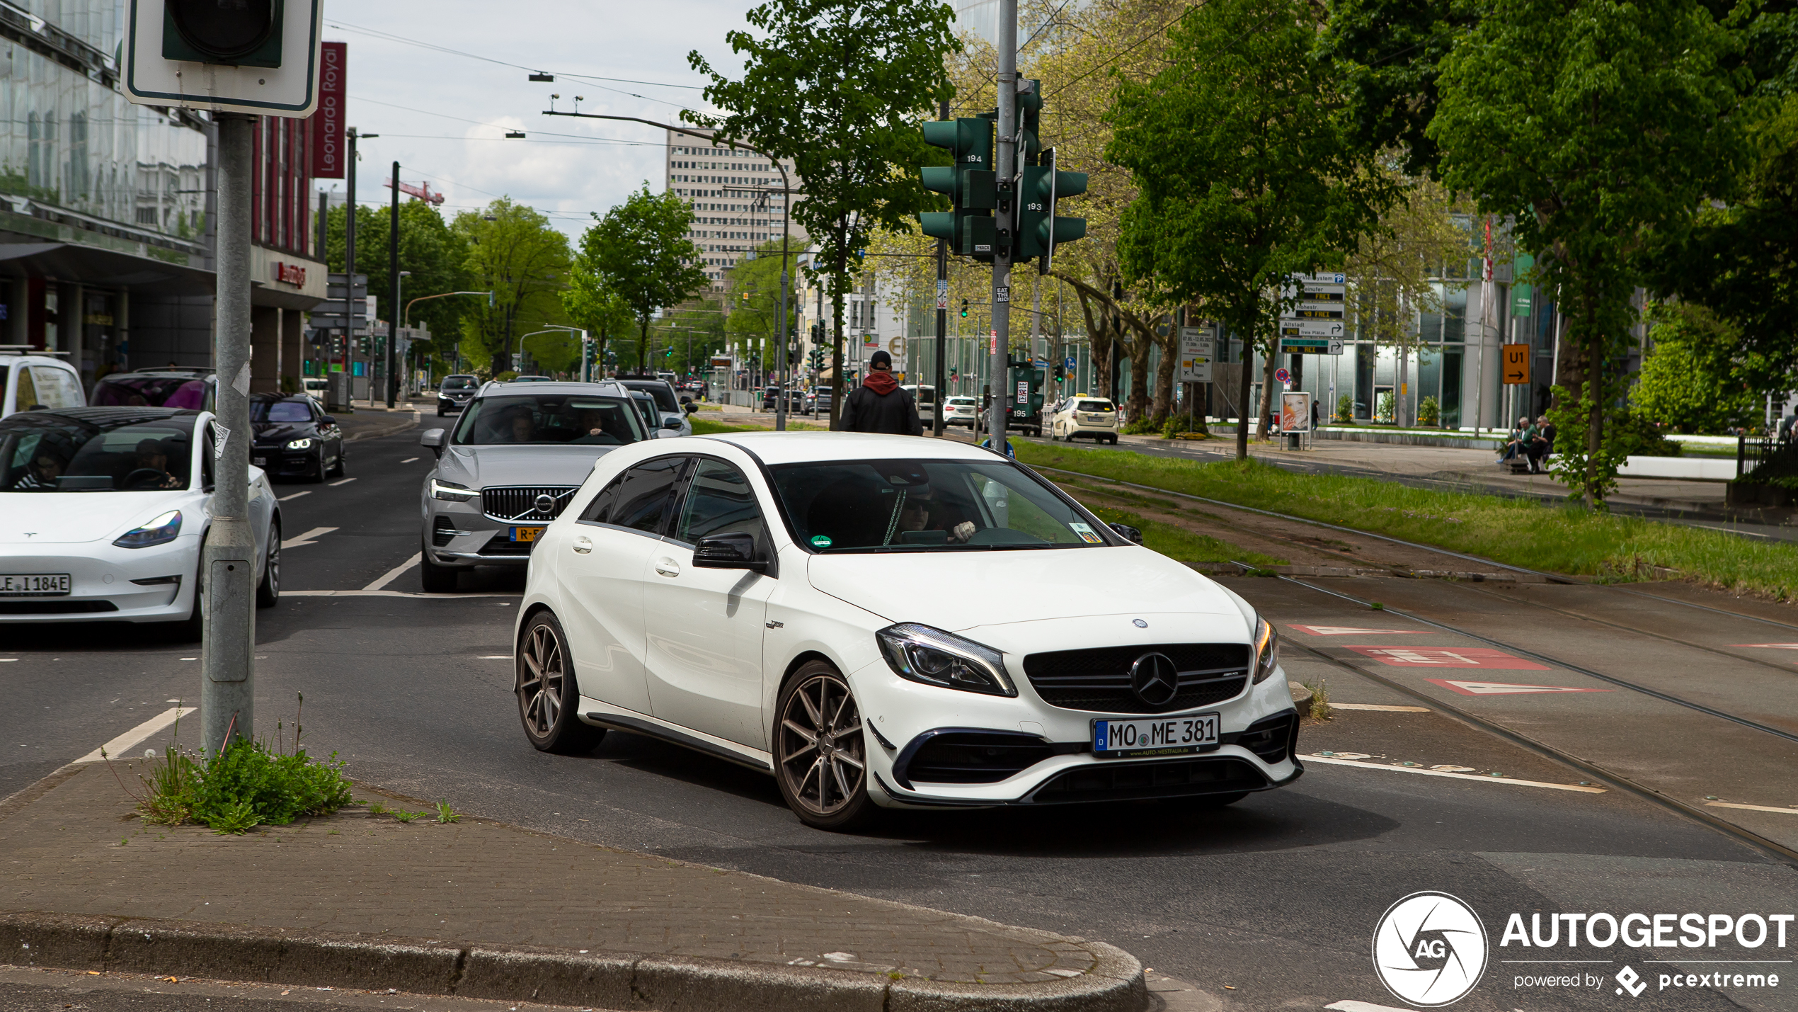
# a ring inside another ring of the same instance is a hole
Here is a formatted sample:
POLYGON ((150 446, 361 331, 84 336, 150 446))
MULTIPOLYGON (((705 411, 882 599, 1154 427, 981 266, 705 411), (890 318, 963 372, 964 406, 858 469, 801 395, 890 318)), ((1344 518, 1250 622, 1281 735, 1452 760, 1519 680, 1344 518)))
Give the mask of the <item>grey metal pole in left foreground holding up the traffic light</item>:
MULTIPOLYGON (((255 726, 255 530, 250 525, 250 131, 255 117, 219 115, 218 415, 212 527, 201 552, 200 726, 209 755, 255 726), (232 377, 232 379, 227 379, 232 377)), ((200 480, 200 475, 192 476, 200 480)), ((196 521, 200 518, 194 518, 196 521)), ((198 600, 196 600, 198 604, 198 600)))

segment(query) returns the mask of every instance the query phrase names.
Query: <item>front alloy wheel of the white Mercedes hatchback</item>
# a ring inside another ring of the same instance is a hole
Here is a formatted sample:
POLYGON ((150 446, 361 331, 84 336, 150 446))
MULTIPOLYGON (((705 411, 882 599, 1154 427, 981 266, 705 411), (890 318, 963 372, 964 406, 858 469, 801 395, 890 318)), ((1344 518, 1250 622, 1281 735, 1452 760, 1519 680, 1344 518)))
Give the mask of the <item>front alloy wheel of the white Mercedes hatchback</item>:
POLYGON ((834 667, 813 661, 780 694, 780 793, 800 821, 847 829, 872 814, 861 710, 834 667))

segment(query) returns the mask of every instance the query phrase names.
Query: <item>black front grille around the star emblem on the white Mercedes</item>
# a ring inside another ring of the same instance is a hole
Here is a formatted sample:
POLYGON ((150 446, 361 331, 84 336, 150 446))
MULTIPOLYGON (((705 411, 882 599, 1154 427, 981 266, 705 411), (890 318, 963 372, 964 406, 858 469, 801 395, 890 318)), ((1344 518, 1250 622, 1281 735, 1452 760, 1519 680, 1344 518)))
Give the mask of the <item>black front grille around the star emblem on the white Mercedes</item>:
POLYGON ((1248 644, 1156 644, 1027 654, 1023 672, 1050 706, 1172 714, 1241 696, 1248 685, 1248 644), (1160 706, 1144 703, 1131 688, 1129 669, 1144 654, 1167 654, 1179 670, 1179 688, 1160 706))

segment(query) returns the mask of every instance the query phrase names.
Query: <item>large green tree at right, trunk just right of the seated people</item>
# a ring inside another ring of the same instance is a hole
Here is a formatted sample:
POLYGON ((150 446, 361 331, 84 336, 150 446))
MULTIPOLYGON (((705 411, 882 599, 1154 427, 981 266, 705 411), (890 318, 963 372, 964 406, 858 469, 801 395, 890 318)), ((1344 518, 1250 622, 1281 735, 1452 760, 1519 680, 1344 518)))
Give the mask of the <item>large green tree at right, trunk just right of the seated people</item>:
POLYGON ((1740 160, 1735 40, 1692 0, 1492 0, 1442 61, 1428 135, 1451 189, 1516 216, 1566 331, 1559 480, 1588 505, 1615 487, 1607 410, 1651 235, 1681 235, 1740 160))

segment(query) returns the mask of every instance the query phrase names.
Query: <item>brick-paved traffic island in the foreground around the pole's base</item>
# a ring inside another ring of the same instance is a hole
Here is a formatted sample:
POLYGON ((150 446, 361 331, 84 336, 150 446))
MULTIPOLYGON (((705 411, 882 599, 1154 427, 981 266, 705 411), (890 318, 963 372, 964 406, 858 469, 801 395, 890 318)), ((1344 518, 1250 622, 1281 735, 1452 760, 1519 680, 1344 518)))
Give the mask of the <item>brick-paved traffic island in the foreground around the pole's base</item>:
MULTIPOLYGON (((406 825, 338 814, 248 836, 146 825, 120 778, 138 786, 124 762, 65 769, 49 789, 40 784, 0 805, 0 915, 176 919, 976 985, 1072 983, 1109 949, 478 818, 406 825)), ((430 809, 372 791, 356 796, 430 809)))

